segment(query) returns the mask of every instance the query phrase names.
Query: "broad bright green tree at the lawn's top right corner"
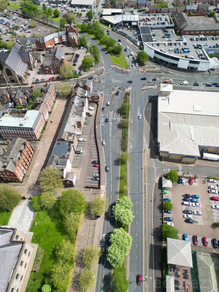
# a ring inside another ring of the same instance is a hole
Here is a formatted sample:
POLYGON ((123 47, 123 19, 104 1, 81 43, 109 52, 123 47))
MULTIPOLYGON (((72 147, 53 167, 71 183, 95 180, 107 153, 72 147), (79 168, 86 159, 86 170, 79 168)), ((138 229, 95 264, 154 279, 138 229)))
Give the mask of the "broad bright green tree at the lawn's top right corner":
POLYGON ((87 208, 87 202, 83 197, 83 193, 78 190, 68 190, 62 192, 60 199, 60 212, 68 215, 71 212, 82 214, 87 208))

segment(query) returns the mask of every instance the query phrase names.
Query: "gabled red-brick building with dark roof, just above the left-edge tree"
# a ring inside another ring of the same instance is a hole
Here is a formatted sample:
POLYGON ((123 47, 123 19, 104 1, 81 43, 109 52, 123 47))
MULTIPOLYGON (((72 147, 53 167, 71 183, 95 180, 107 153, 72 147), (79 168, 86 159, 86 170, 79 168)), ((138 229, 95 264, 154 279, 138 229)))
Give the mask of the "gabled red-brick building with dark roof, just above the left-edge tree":
POLYGON ((34 148, 22 138, 8 142, 10 145, 0 159, 0 178, 2 181, 22 181, 32 160, 34 148))

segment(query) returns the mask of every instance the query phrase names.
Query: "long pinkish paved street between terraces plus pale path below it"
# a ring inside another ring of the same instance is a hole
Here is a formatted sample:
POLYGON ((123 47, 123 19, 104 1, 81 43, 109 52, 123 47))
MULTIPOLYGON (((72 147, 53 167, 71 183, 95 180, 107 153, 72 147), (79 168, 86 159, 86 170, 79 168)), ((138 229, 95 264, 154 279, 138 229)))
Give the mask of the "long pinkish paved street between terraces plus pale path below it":
MULTIPOLYGON (((60 128, 64 116, 63 112, 65 111, 66 102, 68 103, 69 101, 60 99, 56 100, 52 114, 48 119, 46 130, 42 135, 41 141, 33 157, 33 161, 30 164, 30 168, 24 179, 23 184, 25 184, 25 182, 26 184, 15 186, 15 188, 20 191, 22 195, 29 197, 30 195, 38 195, 41 192, 37 178, 42 168, 46 166, 52 152, 58 133, 58 128, 60 128), (50 123, 52 118, 55 120, 53 123, 50 123)), ((33 217, 34 211, 31 208, 30 201, 22 200, 13 210, 8 225, 16 227, 22 231, 28 231, 33 217)))

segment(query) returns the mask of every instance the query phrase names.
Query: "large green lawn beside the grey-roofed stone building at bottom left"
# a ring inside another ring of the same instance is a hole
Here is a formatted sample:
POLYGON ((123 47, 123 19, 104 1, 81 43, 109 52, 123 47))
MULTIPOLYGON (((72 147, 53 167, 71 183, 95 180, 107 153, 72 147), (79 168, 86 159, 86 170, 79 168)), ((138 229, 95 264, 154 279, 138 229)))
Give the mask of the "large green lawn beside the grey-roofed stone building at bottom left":
MULTIPOLYGON (((41 291, 47 274, 51 270, 55 254, 54 249, 67 235, 63 232, 62 218, 53 208, 46 211, 36 212, 31 229, 33 232, 32 243, 38 243, 39 249, 44 249, 43 259, 38 273, 30 273, 26 291, 41 291), (37 222, 37 226, 34 226, 37 222), (33 282, 33 279, 37 279, 33 282)), ((36 260, 36 259, 35 259, 36 260)), ((35 265, 35 262, 34 262, 35 265)))

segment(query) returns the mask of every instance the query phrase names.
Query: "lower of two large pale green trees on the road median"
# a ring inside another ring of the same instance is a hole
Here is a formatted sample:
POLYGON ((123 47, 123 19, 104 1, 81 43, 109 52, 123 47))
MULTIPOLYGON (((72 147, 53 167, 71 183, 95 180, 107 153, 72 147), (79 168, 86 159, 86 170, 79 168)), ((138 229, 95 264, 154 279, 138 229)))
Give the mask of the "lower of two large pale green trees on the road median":
POLYGON ((121 267, 131 249, 132 237, 123 229, 116 228, 110 235, 111 245, 107 248, 107 260, 114 268, 121 267))

